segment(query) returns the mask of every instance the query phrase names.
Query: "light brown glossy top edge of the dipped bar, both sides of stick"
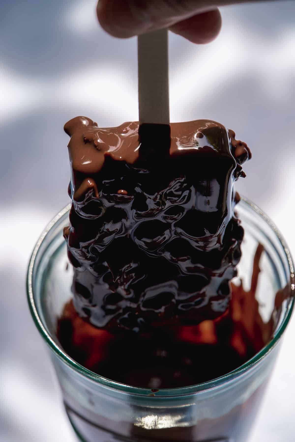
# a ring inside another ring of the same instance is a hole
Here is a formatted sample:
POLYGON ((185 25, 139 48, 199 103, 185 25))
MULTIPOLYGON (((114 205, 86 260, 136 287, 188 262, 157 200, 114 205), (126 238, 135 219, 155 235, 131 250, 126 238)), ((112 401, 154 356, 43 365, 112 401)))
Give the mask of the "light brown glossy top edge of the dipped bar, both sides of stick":
MULTIPOLYGON (((140 155, 138 122, 125 122, 117 127, 99 128, 90 118, 76 117, 65 124, 72 168, 85 174, 100 171, 105 156, 134 164, 140 155)), ((250 157, 248 146, 236 141, 233 131, 212 120, 171 123, 170 155, 214 153, 235 159, 238 164, 250 157), (230 149, 229 137, 233 152, 230 149)), ((239 176, 243 176, 242 171, 239 176)))

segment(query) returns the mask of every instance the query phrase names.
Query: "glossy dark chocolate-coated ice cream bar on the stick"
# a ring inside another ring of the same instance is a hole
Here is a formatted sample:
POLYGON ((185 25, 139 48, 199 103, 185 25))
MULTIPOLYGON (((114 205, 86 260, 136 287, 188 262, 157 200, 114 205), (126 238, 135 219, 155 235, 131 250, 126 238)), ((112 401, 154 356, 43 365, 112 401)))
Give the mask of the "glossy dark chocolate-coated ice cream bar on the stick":
POLYGON ((172 123, 170 149, 140 143, 138 122, 99 128, 77 117, 65 132, 79 316, 115 332, 224 314, 241 257, 233 185, 245 176, 247 145, 211 120, 172 123))

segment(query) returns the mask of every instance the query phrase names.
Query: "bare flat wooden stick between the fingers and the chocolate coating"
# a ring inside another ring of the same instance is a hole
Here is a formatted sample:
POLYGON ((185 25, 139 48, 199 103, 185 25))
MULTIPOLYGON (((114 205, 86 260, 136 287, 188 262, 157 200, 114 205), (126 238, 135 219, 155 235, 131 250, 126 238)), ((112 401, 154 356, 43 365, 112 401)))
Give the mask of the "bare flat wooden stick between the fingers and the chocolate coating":
POLYGON ((168 30, 138 36, 139 123, 170 124, 168 30))

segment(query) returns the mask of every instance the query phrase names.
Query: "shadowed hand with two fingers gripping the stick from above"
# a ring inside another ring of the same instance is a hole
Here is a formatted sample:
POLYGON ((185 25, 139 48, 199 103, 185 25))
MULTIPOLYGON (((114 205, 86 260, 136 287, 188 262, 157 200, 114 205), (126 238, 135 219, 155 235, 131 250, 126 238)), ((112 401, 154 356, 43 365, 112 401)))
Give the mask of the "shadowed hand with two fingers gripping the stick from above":
POLYGON ((97 17, 104 30, 119 38, 168 27, 193 43, 208 43, 217 37, 221 28, 217 7, 246 1, 99 0, 97 17))

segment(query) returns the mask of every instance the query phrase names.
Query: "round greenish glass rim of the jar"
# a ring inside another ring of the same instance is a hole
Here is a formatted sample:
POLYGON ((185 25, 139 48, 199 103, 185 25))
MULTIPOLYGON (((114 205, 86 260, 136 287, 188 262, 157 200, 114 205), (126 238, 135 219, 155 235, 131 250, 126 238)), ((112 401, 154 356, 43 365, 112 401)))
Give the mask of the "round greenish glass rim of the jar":
MULTIPOLYGON (((287 257, 289 271, 290 271, 290 279, 294 281, 294 263, 291 256, 291 252, 289 251, 289 248, 287 246, 286 241, 284 240, 284 237, 282 236, 280 230, 276 227, 276 225, 273 223, 273 221, 253 202, 249 201, 247 198, 241 197, 241 202, 245 204, 245 206, 248 206, 250 210, 253 210, 256 212, 260 217, 266 221, 266 223, 269 225, 269 227, 272 229, 272 231, 275 233, 277 239, 279 240, 281 246, 283 247, 284 254, 287 257)), ((32 277, 33 277, 33 270, 35 265, 35 259, 38 253, 39 248, 41 247, 41 244, 43 240, 45 240, 45 237, 50 232, 51 229, 54 228, 55 224, 63 217, 71 208, 71 204, 68 206, 65 206, 64 209, 62 209, 50 223, 47 225, 47 227, 43 230, 41 236, 39 237, 34 250, 31 255, 31 259, 29 262, 28 270, 27 270, 27 299, 29 303, 29 308, 31 311, 31 315, 33 317, 34 323, 36 327, 38 328, 39 333, 42 335, 42 338, 46 341, 46 343, 49 345, 51 351, 54 352, 54 354, 60 358, 63 362, 65 362, 68 366, 70 366, 73 370, 80 373, 84 377, 87 377, 89 380, 92 380, 104 387, 110 388, 112 390, 117 390, 122 393, 126 394, 132 394, 136 396, 146 396, 147 394, 149 396, 152 396, 151 389, 142 388, 142 387, 134 387, 132 385, 123 384, 117 381, 112 381, 111 379, 107 379, 106 377, 100 376, 99 374, 96 374, 92 372, 91 370, 88 370, 84 366, 80 365, 78 362, 76 362, 73 358, 71 358, 68 354, 65 353, 65 351, 55 342, 53 337, 50 335, 50 333, 46 330, 46 327, 44 326, 41 317, 38 314, 38 309, 36 306, 36 303, 34 301, 34 291, 33 291, 33 284, 32 284, 32 277)), ((258 362, 261 361, 262 358, 268 354, 270 350, 272 350, 273 347, 276 346, 278 341, 280 340, 281 336, 283 335, 287 324, 289 323, 289 320, 291 318, 294 303, 295 303, 295 288, 294 284, 290 284, 290 301, 287 305, 287 309, 284 315, 284 319, 281 321, 279 327, 275 330, 275 333, 272 337, 272 339, 267 343, 259 352, 257 352, 252 358, 250 358, 247 362, 239 366, 237 369, 230 371, 229 373, 226 373, 223 376, 217 377, 215 379, 212 379, 211 381, 203 382, 200 384, 195 385, 189 385, 187 387, 178 387, 178 388, 171 388, 171 389, 159 389, 157 392, 156 397, 175 397, 175 396, 187 396, 191 394, 195 394, 197 392, 203 392, 208 391, 210 389, 216 388, 219 385, 223 385, 226 383, 229 383, 242 373, 244 373, 246 370, 249 370, 250 367, 256 366, 258 362)))

